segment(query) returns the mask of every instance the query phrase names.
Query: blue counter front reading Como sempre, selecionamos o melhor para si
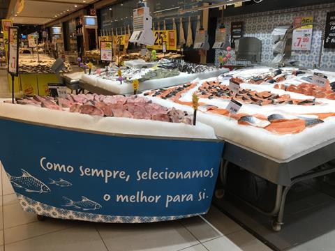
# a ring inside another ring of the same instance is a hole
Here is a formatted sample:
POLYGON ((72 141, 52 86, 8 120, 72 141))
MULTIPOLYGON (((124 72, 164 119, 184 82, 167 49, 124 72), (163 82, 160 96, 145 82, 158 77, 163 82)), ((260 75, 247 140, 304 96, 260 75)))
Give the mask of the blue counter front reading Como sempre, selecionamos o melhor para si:
POLYGON ((6 119, 0 129, 0 160, 25 211, 137 223, 204 214, 211 206, 223 142, 118 137, 6 119))

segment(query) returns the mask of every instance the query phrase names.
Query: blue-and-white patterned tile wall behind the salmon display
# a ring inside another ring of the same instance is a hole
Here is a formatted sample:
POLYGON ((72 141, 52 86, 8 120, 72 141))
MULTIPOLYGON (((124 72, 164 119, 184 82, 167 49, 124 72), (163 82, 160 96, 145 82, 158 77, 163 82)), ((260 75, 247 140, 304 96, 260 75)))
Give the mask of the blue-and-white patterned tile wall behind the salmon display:
MULTIPOLYGON (((291 8, 288 10, 274 10, 264 13, 253 13, 248 15, 239 15, 224 18, 224 23, 228 31, 230 31, 231 22, 244 22, 244 37, 255 37, 262 40, 262 63, 270 63, 274 59, 272 50, 273 42, 271 32, 276 26, 283 24, 292 24, 294 17, 313 16, 314 22, 325 24, 327 12, 335 10, 335 3, 327 3, 318 6, 306 6, 303 8, 291 8)), ((323 28, 325 29, 325 28, 323 28)), ((300 66, 313 67, 318 64, 320 52, 322 30, 318 26, 313 28, 313 39, 311 52, 293 51, 292 59, 299 61, 300 66)), ((222 50, 216 50, 216 64, 218 64, 218 55, 222 50)), ((234 51, 232 51, 232 59, 228 62, 231 65, 248 66, 251 63, 245 61, 235 61, 234 51)), ((322 53, 322 68, 335 68, 335 50, 325 49, 322 53)))

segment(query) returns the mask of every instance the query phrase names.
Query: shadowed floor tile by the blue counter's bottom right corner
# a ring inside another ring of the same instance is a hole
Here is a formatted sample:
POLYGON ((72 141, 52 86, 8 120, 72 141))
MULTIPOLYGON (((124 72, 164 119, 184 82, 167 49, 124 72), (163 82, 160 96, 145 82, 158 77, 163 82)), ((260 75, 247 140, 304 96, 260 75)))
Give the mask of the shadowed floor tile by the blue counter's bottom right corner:
POLYGON ((223 235, 232 234, 235 231, 241 231, 242 228, 236 222, 228 218, 227 215, 218 210, 215 206, 211 206, 209 213, 203 215, 208 222, 213 225, 223 235))

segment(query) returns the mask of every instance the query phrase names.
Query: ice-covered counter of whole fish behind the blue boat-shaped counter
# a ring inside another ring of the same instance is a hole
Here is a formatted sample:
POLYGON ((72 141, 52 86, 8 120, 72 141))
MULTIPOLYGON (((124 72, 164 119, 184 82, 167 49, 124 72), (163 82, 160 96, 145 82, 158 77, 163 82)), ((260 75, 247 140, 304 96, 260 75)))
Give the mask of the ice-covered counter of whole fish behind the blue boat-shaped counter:
MULTIPOLYGON (((118 68, 97 69, 92 75, 82 74, 82 88, 103 93, 128 94, 133 93, 133 80, 139 79, 137 91, 159 89, 178 84, 186 84, 193 79, 206 79, 227 73, 227 68, 215 68, 188 63, 177 62, 159 63, 154 68, 121 68, 121 79, 118 68)), ((161 61, 160 61, 161 62, 161 61)), ((129 63, 129 61, 127 62, 129 63)), ((145 62, 144 62, 145 63, 145 62)))

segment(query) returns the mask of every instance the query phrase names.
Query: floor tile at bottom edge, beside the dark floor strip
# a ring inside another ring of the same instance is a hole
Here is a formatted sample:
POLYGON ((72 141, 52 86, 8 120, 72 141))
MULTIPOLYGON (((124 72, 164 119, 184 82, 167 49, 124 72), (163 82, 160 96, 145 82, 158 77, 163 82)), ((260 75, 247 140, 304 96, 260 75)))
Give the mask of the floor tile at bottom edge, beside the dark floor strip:
POLYGON ((249 234, 246 230, 229 234, 226 237, 244 251, 271 251, 271 248, 268 248, 267 245, 259 241, 252 234, 249 234))

